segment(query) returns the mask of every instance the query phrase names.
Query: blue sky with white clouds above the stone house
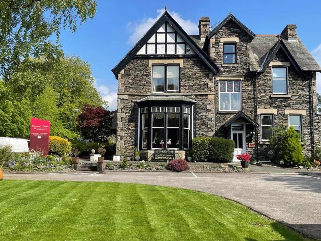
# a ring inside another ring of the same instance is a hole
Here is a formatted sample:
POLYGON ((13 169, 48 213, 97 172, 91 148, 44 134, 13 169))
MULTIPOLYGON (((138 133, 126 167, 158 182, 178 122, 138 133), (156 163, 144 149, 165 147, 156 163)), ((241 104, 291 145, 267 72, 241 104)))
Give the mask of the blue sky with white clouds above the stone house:
MULTIPOLYGON (((157 20, 165 5, 188 34, 198 34, 200 17, 210 17, 210 24, 214 25, 230 12, 256 34, 279 34, 287 24, 297 24, 299 37, 321 64, 320 0, 98 0, 94 19, 79 26, 75 33, 61 31, 60 43, 66 54, 89 62, 95 85, 104 100, 109 101, 109 109, 116 108, 117 92, 111 69, 157 20)), ((321 85, 318 89, 320 93, 321 85)))

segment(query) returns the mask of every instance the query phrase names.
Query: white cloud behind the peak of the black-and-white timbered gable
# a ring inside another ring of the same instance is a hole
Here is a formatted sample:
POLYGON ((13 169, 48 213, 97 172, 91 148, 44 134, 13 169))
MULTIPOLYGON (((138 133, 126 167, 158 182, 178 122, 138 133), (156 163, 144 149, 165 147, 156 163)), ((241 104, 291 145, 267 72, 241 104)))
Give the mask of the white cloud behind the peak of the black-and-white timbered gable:
MULTIPOLYGON (((157 9, 155 18, 143 18, 140 23, 128 22, 126 28, 131 32, 128 43, 135 44, 152 27, 152 25, 164 13, 164 9, 157 9)), ((198 23, 191 20, 185 20, 176 12, 169 12, 175 21, 187 32, 187 34, 198 34, 198 23)))

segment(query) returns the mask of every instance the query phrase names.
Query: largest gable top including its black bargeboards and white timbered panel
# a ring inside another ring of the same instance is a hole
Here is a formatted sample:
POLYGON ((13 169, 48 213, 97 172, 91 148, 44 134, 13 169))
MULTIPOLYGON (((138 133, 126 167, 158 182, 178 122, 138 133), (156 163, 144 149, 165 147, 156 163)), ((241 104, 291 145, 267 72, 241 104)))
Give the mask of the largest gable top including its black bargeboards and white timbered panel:
POLYGON ((197 46, 197 44, 191 39, 190 36, 188 36, 188 34, 182 29, 181 26, 179 26, 179 24, 172 18, 172 16, 170 16, 170 14, 167 11, 165 11, 165 13, 163 13, 160 16, 160 18, 157 20, 157 22, 154 23, 154 25, 145 33, 145 35, 135 44, 135 46, 126 54, 126 56, 124 58, 122 58, 122 60, 111 71, 114 73, 115 77, 118 78, 118 74, 120 73, 120 71, 136 55, 137 56, 146 56, 146 57, 148 57, 150 55, 151 58, 155 57, 156 54, 158 55, 158 53, 150 54, 150 53, 148 53, 149 51, 150 52, 152 52, 152 51, 155 51, 155 52, 157 52, 157 51, 174 52, 174 54, 169 54, 169 53, 160 54, 160 56, 162 58, 164 56, 166 58, 171 58, 171 57, 177 58, 177 55, 184 56, 185 52, 186 52, 186 55, 188 55, 189 53, 187 54, 187 46, 190 47, 191 53, 193 51, 194 54, 196 56, 198 56, 204 62, 204 64, 207 65, 211 71, 213 71, 214 74, 216 74, 219 71, 219 68, 211 60, 211 58, 209 56, 207 56, 205 54, 205 52, 202 49, 200 49, 199 46, 197 46), (169 25, 168 25, 168 23, 166 24, 166 22, 168 22, 169 25), (164 25, 164 23, 165 23, 165 25, 164 25), (171 30, 171 31, 166 31, 166 28, 168 26, 169 26, 169 30, 171 30), (164 27, 165 27, 165 31, 164 31, 164 27), (174 31, 172 31, 173 29, 174 29, 174 31), (158 36, 158 31, 160 32, 160 34, 163 34, 163 36, 160 36, 161 41, 163 41, 162 37, 166 38, 164 42, 158 42, 158 40, 156 40, 156 38, 158 36), (165 33, 166 33, 166 35, 165 35, 165 33), (174 33, 174 35, 167 35, 169 33, 174 33), (155 39, 153 38, 154 34, 155 34, 155 39), (167 40, 168 36, 169 36, 169 40, 167 40), (170 39, 170 37, 172 37, 172 36, 176 36, 176 41, 168 42, 168 41, 172 41, 170 39), (179 36, 178 39, 177 39, 177 36, 179 36), (148 42, 148 41, 155 41, 155 42, 148 42), (155 47, 153 44, 155 45, 155 47), (180 52, 180 51, 182 52, 183 44, 184 44, 184 54, 179 54, 178 52, 180 52), (151 46, 149 46, 149 45, 151 45, 151 46), (160 45, 160 46, 158 46, 158 45, 160 45), (145 46, 145 48, 143 48, 144 46, 145 46), (149 49, 146 49, 146 46, 149 49), (176 46, 176 50, 175 50, 175 46, 176 46), (185 48, 185 46, 186 46, 186 48, 185 48), (169 50, 167 50, 167 47, 169 47, 169 50), (174 50, 172 49, 173 47, 174 47, 174 50), (154 50, 154 48, 155 48, 155 50, 154 50), (159 50, 157 50, 157 48, 159 50), (164 50, 162 50, 162 48, 164 48, 164 50), (166 50, 165 50, 165 48, 166 48, 166 50), (138 54, 138 52, 139 52, 139 54, 138 54))

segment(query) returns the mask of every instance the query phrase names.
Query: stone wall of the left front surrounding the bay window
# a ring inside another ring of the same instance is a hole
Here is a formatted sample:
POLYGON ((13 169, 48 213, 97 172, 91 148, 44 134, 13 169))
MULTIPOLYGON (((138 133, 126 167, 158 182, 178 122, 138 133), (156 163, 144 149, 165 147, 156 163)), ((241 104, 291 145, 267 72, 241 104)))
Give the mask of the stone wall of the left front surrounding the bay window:
MULTIPOLYGON (((136 101, 151 94, 151 83, 152 67, 149 67, 148 59, 133 58, 118 75, 118 155, 133 155, 134 148, 137 147, 136 101)), ((194 136, 212 136, 214 134, 213 75, 199 58, 183 59, 183 66, 180 68, 180 92, 179 94, 197 101, 194 107, 194 136)))

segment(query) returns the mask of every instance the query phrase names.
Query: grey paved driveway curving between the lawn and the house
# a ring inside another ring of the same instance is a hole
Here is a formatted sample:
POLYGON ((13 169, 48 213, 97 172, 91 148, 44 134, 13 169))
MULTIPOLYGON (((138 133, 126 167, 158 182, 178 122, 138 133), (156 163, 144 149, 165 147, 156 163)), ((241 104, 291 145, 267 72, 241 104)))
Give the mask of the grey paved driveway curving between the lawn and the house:
POLYGON ((4 174, 5 179, 106 181, 182 187, 220 195, 321 239, 321 175, 74 172, 4 174))

